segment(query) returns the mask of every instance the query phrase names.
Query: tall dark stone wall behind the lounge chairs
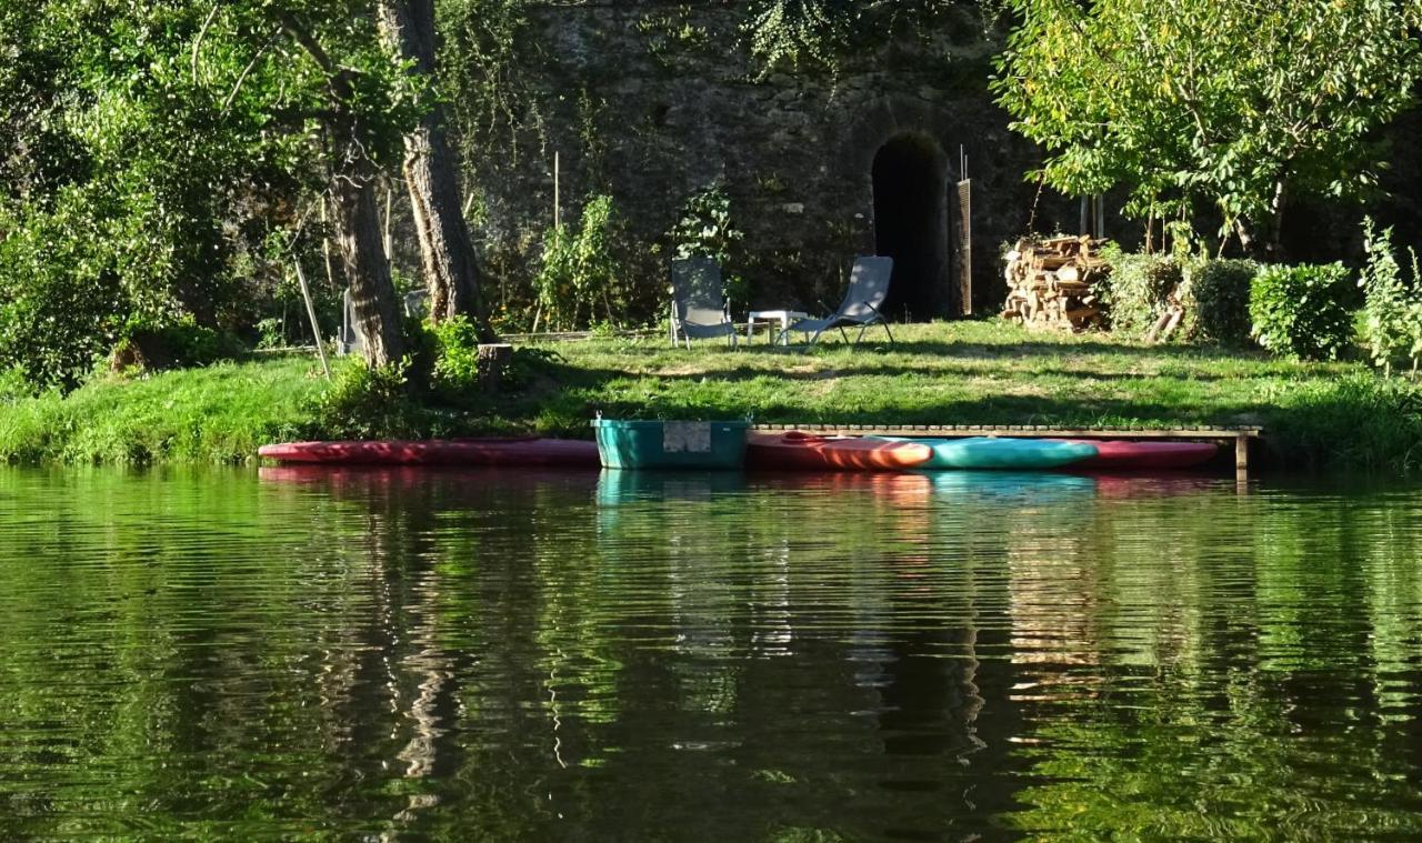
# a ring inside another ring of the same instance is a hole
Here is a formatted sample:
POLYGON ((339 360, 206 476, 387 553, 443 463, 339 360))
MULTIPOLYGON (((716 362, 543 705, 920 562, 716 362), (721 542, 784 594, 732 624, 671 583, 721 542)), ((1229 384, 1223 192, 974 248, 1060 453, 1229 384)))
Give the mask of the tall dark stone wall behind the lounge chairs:
MULTIPOLYGON (((884 236, 876 232, 875 162, 899 141, 897 149, 912 142, 924 156, 924 178, 943 203, 961 175, 960 151, 966 156, 974 188, 974 308, 995 313, 1005 291, 1000 245, 1022 233, 1034 213, 1038 192, 1022 173, 1037 152, 1008 131, 1007 115, 993 104, 987 85, 997 44, 975 18, 964 13, 960 26, 944 27, 931 44, 896 43, 852 57, 835 75, 762 77, 742 45, 735 7, 683 7, 678 14, 668 27, 646 9, 538 13, 540 53, 525 73, 535 74, 542 94, 530 105, 536 114, 523 117, 539 128, 523 132, 506 161, 475 176, 489 220, 481 236, 495 273, 526 273, 520 263, 552 222, 557 151, 565 213, 576 218, 579 199, 590 192, 614 196, 634 243, 627 259, 648 279, 644 296, 661 294, 665 232, 685 199, 722 181, 747 235, 739 266, 728 267, 747 280, 744 304, 832 307, 852 259, 875 253, 876 236, 884 236)), ((894 171, 900 181, 912 172, 912 158, 904 161, 910 169, 894 171)), ((880 216, 893 216, 883 206, 893 189, 879 185, 880 216)), ((947 206, 940 212, 947 245, 947 206)), ((1044 192, 1035 227, 1075 226, 1076 205, 1044 192)), ((914 236, 924 235, 903 237, 914 236)), ((951 263, 951 247, 943 257, 951 263)), ((920 283, 941 289, 906 299, 909 283, 896 279, 906 290, 893 316, 902 318, 906 307, 913 318, 954 313, 948 267, 917 272, 920 283)), ((647 313, 660 307, 656 301, 647 313)))

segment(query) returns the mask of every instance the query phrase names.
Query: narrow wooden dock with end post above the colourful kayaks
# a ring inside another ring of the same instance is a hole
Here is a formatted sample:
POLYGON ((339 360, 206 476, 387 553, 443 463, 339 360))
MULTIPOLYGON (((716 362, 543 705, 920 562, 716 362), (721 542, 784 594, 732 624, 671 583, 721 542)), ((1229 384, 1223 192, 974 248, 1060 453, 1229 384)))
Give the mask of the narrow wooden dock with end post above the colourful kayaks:
POLYGON ((1183 439, 1234 444, 1234 469, 1249 471, 1250 442, 1264 435, 1256 425, 1200 425, 1193 428, 1061 428, 1051 425, 752 425, 759 434, 805 431, 823 436, 920 436, 963 439, 967 436, 1020 436, 1034 439, 1183 439))

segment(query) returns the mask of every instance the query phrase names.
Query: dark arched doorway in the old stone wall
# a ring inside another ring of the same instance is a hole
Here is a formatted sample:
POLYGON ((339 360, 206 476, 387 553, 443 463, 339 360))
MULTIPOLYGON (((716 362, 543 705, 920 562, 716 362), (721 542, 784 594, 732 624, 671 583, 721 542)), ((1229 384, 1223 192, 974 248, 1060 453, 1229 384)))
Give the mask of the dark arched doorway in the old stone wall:
POLYGON ((943 148, 926 135, 899 135, 875 155, 875 247, 893 257, 892 320, 950 313, 947 176, 943 148))

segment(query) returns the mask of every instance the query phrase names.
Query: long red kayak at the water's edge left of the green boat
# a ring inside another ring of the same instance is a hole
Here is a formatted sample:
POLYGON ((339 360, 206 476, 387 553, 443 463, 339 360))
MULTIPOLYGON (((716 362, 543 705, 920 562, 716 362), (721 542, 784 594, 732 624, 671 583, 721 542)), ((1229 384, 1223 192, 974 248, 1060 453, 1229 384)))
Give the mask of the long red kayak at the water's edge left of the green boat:
POLYGON ((286 442, 259 456, 327 465, 536 465, 597 468, 597 444, 579 439, 425 439, 286 442))

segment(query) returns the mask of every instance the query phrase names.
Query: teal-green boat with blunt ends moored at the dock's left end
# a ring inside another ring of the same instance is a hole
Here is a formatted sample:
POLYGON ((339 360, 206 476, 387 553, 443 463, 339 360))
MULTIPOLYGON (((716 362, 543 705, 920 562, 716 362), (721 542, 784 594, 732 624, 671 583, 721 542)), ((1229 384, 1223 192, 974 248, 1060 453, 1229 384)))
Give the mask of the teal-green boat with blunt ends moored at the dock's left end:
POLYGON ((594 419, 603 468, 728 469, 745 465, 751 424, 594 419))

